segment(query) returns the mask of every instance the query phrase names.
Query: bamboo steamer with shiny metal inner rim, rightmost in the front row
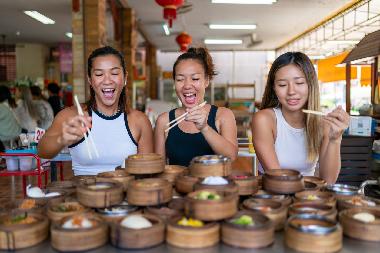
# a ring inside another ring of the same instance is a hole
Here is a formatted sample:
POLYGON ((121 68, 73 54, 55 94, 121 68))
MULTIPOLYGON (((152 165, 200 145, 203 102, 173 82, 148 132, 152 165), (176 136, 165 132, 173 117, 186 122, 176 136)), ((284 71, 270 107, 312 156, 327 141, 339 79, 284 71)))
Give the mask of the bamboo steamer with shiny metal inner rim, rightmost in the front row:
POLYGON ((320 215, 293 215, 285 225, 285 245, 307 253, 332 253, 342 248, 342 232, 336 220, 320 215), (303 227, 310 225, 316 227, 303 227))

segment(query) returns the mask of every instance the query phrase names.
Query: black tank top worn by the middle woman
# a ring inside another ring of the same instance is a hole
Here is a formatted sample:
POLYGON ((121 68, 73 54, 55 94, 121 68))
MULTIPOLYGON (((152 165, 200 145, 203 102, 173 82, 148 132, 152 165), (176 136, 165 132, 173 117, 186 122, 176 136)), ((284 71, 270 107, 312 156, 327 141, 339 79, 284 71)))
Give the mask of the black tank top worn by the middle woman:
MULTIPOLYGON (((207 124, 219 134, 215 126, 217 110, 217 106, 211 105, 207 124)), ((176 109, 173 109, 169 112, 169 121, 176 118, 174 115, 175 111, 176 109)), ((169 164, 171 165, 188 167, 193 157, 215 154, 201 132, 188 134, 179 129, 178 125, 169 130, 165 147, 166 155, 168 156, 169 164)))

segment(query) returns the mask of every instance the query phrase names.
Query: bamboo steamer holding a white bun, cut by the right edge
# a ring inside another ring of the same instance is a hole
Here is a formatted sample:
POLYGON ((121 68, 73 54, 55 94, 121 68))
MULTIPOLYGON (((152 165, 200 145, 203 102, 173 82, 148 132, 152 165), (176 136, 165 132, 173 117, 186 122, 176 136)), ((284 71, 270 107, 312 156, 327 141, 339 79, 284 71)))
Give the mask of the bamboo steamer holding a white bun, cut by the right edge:
POLYGON ((343 233, 346 236, 367 240, 372 242, 380 242, 380 211, 375 209, 364 209, 363 207, 355 207, 353 209, 345 209, 339 212, 339 222, 343 226, 343 233), (374 222, 362 222, 353 218, 353 215, 366 212, 375 216, 374 222))

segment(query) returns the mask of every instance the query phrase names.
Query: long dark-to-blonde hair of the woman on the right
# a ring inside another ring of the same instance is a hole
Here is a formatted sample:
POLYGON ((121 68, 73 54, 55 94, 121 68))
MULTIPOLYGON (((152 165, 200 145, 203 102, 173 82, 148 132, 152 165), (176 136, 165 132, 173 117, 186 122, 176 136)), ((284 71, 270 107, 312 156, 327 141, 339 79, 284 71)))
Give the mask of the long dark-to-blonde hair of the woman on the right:
MULTIPOLYGON (((319 99, 319 86, 317 73, 309 57, 301 52, 288 52, 280 55, 271 66, 268 80, 266 82, 260 110, 265 108, 281 108, 281 103, 277 99, 273 85, 278 69, 283 66, 293 64, 301 69, 305 75, 306 83, 309 86, 309 99, 306 102, 306 109, 321 111, 319 99)), ((305 146, 307 149, 307 162, 311 163, 319 156, 322 143, 322 118, 319 115, 305 113, 304 117, 305 146)))

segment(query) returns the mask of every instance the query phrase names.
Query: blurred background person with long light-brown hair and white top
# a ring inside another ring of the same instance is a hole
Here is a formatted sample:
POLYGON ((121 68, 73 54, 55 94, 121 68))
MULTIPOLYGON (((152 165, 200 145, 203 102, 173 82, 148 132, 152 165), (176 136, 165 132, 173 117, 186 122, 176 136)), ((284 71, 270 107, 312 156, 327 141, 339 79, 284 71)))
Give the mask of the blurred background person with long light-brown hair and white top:
POLYGON ((14 93, 16 96, 17 109, 21 117, 21 127, 28 130, 28 133, 35 132, 38 121, 38 113, 33 103, 32 93, 29 86, 19 85, 14 93))

